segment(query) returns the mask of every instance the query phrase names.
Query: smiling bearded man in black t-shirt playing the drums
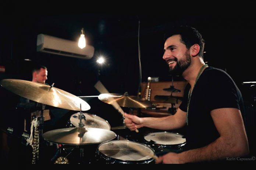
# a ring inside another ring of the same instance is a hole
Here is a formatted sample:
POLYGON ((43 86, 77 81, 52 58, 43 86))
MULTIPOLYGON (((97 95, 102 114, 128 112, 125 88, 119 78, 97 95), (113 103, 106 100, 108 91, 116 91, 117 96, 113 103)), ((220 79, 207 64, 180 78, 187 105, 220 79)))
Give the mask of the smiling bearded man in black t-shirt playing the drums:
POLYGON ((189 163, 226 160, 249 154, 243 124, 242 95, 225 71, 203 61, 204 40, 192 27, 178 27, 167 34, 163 59, 173 75, 188 85, 175 115, 139 118, 125 114, 130 130, 150 127, 173 130, 186 126, 186 145, 181 153, 159 156, 156 163, 189 163), (219 82, 222 82, 221 84, 219 82))

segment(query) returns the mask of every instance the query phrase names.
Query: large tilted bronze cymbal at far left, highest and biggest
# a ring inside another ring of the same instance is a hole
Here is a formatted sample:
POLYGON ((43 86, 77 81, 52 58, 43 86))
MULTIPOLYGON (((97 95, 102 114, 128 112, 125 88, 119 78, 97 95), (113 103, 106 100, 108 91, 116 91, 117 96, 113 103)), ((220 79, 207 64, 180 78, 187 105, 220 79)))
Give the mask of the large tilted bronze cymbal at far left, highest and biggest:
POLYGON ((75 111, 80 111, 81 104, 82 111, 90 109, 86 101, 64 90, 50 88, 49 85, 17 79, 4 79, 0 84, 7 90, 38 103, 75 111))

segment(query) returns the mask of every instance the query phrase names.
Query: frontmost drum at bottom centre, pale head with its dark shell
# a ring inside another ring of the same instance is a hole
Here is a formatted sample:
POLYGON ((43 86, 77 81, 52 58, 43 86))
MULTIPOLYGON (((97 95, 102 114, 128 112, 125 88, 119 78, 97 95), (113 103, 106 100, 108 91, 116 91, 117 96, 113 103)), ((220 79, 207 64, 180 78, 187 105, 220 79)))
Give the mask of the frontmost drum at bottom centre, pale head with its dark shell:
POLYGON ((126 140, 104 142, 99 145, 96 152, 97 161, 106 164, 155 163, 150 155, 154 155, 152 148, 126 140))

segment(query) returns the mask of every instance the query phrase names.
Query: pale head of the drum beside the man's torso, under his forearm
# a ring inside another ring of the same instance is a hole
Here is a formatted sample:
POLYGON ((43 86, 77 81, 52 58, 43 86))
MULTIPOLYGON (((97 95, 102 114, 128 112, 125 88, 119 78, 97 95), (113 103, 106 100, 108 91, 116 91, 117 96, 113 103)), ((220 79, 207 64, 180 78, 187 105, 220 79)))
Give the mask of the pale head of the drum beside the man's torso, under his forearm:
POLYGON ((186 138, 183 138, 183 135, 171 132, 149 133, 144 136, 144 139, 161 145, 177 145, 186 143, 186 138))

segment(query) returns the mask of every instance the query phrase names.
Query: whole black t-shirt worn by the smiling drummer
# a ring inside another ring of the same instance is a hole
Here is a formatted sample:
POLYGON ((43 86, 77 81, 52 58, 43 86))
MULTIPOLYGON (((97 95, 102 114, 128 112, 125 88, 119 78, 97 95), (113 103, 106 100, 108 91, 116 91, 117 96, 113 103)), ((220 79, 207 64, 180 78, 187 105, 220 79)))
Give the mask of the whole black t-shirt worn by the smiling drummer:
MULTIPOLYGON (((188 84, 184 100, 179 108, 187 111, 188 84)), ((186 145, 184 150, 204 147, 220 137, 210 111, 217 108, 238 108, 243 110, 240 90, 225 71, 207 67, 200 75, 193 89, 186 126, 186 145)))

